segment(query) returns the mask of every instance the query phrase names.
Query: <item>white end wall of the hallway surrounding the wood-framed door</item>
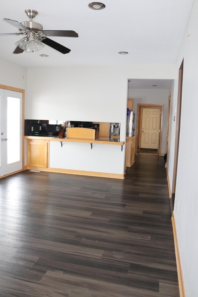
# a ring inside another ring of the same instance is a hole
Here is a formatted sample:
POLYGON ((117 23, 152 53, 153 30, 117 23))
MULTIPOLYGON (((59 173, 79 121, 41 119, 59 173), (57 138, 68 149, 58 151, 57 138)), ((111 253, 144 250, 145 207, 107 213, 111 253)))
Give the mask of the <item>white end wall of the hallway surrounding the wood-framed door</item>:
POLYGON ((168 117, 168 97, 170 90, 151 90, 151 89, 129 89, 128 97, 133 99, 133 109, 135 112, 135 131, 137 120, 137 104, 164 104, 164 118, 162 131, 161 153, 166 153, 166 133, 168 117))

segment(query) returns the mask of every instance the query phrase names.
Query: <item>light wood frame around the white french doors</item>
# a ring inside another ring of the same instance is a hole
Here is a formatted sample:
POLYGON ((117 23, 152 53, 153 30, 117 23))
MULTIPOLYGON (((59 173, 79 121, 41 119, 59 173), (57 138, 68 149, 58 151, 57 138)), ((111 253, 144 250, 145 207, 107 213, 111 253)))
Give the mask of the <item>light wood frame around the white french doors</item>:
POLYGON ((19 88, 14 88, 14 87, 10 87, 10 86, 5 86, 3 84, 0 84, 0 88, 1 89, 4 89, 4 90, 9 90, 9 91, 14 91, 14 92, 19 92, 19 93, 22 93, 22 169, 21 170, 18 170, 18 171, 15 171, 15 172, 12 172, 12 173, 9 173, 9 174, 6 174, 6 175, 3 175, 0 177, 3 178, 3 177, 6 177, 8 175, 11 175, 11 174, 14 174, 16 172, 20 172, 22 170, 24 170, 24 116, 25 116, 25 90, 24 89, 19 89, 19 88))

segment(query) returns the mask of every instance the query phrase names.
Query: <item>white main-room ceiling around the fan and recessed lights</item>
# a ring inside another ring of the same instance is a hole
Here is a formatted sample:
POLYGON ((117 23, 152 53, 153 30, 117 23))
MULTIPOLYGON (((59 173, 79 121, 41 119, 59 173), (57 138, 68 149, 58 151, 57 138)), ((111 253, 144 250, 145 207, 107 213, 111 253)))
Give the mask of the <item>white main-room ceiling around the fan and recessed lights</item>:
POLYGON ((0 33, 18 32, 3 18, 28 21, 24 11, 34 9, 38 15, 33 21, 44 30, 74 30, 79 37, 50 37, 71 49, 69 54, 47 45, 39 52, 12 54, 21 37, 0 36, 0 57, 24 67, 174 64, 192 2, 103 0, 105 9, 94 11, 88 8, 89 0, 7 0, 1 5, 0 33))

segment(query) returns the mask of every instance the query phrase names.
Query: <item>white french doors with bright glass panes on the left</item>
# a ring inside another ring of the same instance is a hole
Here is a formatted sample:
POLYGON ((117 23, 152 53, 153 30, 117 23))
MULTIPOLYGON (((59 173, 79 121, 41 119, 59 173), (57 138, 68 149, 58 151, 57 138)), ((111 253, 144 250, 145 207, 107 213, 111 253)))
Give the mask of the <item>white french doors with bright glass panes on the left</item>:
POLYGON ((0 88, 0 177, 22 170, 23 93, 0 88))

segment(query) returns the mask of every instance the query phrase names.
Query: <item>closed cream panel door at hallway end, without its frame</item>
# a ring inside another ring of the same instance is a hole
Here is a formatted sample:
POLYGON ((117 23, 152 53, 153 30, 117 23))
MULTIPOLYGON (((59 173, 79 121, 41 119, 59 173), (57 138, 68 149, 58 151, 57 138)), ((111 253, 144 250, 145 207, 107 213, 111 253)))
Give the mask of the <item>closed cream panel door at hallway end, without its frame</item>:
POLYGON ((159 146, 160 109, 142 109, 141 148, 158 149, 159 146))

